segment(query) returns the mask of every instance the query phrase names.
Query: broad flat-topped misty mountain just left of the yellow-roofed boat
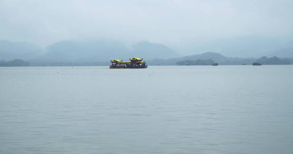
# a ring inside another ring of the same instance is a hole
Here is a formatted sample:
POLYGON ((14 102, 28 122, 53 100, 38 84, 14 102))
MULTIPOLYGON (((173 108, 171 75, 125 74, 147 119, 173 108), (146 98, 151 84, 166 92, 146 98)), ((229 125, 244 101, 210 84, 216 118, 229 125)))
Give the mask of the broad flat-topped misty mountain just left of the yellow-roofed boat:
POLYGON ((40 57, 46 62, 95 62, 112 58, 128 58, 129 50, 123 44, 112 40, 86 39, 67 40, 54 43, 46 48, 40 57))

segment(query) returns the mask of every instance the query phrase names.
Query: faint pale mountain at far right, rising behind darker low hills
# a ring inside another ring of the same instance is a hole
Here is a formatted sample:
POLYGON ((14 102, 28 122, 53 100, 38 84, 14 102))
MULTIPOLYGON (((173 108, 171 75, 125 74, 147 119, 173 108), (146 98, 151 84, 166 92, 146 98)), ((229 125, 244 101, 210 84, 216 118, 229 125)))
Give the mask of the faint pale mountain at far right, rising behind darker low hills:
POLYGON ((191 42, 180 47, 182 53, 188 55, 196 52, 217 52, 228 57, 261 57, 272 53, 289 38, 265 35, 246 35, 209 40, 206 42, 191 42))

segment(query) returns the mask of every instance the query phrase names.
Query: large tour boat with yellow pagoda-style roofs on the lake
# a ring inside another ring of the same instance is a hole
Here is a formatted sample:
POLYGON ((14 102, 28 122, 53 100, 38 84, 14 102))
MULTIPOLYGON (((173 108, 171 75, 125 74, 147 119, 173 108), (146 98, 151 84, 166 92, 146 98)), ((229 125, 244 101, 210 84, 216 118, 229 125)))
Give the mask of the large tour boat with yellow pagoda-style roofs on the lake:
POLYGON ((148 65, 142 58, 130 58, 130 61, 123 61, 120 59, 112 59, 109 68, 147 68, 148 65))

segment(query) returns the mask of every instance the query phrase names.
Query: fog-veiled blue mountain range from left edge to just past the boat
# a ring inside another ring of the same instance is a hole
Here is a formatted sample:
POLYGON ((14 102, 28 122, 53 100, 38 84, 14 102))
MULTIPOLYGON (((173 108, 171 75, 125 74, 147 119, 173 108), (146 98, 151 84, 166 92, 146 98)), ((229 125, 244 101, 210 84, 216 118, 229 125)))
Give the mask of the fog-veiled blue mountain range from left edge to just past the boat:
POLYGON ((169 47, 142 41, 127 46, 116 40, 85 38, 53 43, 44 49, 30 43, 0 41, 0 60, 23 59, 32 62, 99 62, 118 58, 174 58, 180 55, 169 47))

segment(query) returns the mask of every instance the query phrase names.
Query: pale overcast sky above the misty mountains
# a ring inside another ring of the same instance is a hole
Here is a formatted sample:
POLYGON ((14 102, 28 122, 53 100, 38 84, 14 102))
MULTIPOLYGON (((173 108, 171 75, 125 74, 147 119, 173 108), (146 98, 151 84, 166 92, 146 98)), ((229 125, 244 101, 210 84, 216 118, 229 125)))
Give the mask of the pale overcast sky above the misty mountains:
POLYGON ((292 35, 291 0, 0 0, 0 39, 40 45, 106 37, 181 44, 292 35))

